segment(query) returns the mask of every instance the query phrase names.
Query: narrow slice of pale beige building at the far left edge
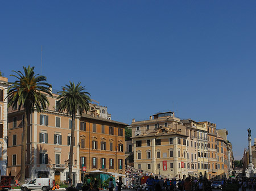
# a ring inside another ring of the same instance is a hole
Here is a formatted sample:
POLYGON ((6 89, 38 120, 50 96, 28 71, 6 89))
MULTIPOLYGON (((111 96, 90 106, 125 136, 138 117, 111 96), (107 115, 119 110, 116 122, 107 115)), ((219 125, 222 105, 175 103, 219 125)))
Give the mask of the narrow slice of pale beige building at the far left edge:
POLYGON ((0 176, 6 175, 7 165, 7 85, 8 79, 0 77, 0 176))

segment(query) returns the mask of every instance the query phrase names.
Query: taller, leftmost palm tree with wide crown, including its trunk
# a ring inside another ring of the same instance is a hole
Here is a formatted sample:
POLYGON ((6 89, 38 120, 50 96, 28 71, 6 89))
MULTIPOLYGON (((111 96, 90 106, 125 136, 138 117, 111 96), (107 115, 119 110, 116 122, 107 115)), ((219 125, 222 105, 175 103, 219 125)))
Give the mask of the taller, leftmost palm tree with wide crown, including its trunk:
MULTIPOLYGON (((24 126, 22 137, 22 151, 21 151, 21 168, 20 168, 20 183, 25 182, 25 156, 26 156, 26 143, 27 143, 27 125, 28 116, 34 111, 42 112, 49 104, 47 94, 51 94, 51 85, 44 82, 46 77, 43 75, 35 75, 34 67, 24 67, 24 74, 21 71, 13 71, 16 75, 15 82, 9 82, 10 87, 7 90, 8 107, 18 108, 24 107, 24 126)), ((7 98, 6 97, 6 98, 7 98)))

